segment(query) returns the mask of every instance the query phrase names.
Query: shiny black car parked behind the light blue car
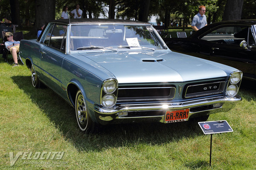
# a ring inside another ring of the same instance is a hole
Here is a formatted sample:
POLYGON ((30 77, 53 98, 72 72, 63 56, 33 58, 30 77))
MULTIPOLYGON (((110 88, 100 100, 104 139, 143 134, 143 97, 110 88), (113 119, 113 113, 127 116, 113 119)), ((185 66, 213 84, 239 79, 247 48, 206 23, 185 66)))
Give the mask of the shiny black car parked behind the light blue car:
POLYGON ((172 51, 230 65, 256 80, 256 20, 212 23, 187 38, 164 41, 172 51))

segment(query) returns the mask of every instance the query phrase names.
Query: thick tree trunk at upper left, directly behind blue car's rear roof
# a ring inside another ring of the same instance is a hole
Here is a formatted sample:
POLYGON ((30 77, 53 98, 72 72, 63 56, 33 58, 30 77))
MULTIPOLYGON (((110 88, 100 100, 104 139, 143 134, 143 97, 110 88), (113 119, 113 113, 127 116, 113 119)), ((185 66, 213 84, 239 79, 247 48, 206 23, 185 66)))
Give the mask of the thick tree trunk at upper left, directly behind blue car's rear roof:
POLYGON ((55 20, 55 0, 35 0, 35 28, 55 20))

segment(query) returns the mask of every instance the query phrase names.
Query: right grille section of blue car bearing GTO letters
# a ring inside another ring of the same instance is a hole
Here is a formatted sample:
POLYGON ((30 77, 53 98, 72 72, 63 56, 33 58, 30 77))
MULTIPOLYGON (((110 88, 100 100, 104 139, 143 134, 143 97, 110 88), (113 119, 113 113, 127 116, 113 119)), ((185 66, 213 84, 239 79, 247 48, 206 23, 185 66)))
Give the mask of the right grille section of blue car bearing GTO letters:
POLYGON ((185 86, 184 98, 221 94, 225 88, 225 81, 204 82, 200 84, 188 84, 185 86))

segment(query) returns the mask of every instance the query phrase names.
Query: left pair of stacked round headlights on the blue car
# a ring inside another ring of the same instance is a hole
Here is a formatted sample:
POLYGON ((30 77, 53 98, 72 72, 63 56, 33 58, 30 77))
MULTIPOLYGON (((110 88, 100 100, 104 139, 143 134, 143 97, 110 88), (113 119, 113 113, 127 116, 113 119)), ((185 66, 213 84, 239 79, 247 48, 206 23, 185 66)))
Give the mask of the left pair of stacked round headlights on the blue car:
POLYGON ((105 108, 116 105, 118 82, 116 79, 106 79, 102 83, 100 103, 105 108))

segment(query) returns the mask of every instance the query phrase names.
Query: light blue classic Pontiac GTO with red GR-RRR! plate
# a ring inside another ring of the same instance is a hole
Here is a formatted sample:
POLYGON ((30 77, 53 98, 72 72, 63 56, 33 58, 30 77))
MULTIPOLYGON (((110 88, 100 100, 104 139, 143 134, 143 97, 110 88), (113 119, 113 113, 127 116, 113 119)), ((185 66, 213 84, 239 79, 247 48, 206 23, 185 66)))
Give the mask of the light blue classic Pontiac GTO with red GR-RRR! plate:
POLYGON ((21 40, 32 85, 47 85, 76 110, 82 131, 122 122, 205 121, 228 111, 242 72, 172 52, 148 23, 70 19, 21 40))

